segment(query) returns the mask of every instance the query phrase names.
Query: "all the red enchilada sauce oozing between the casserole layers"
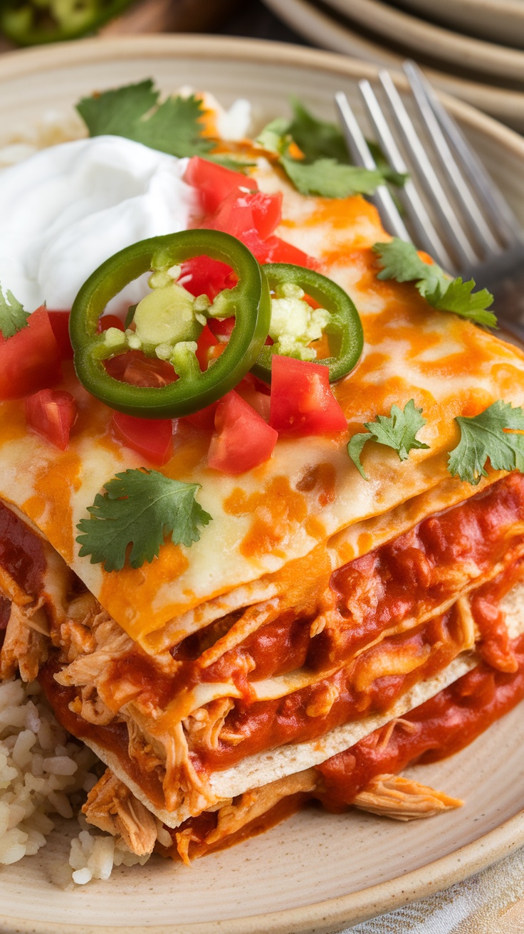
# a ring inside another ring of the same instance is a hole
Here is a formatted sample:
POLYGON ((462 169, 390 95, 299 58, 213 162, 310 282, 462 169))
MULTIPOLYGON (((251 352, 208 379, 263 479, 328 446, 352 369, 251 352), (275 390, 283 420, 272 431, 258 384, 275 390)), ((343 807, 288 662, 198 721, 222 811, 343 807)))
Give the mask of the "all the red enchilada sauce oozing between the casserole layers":
MULTIPOLYGON (((484 573, 489 571, 493 562, 498 559, 505 557, 506 560, 511 561, 514 551, 517 550, 518 553, 521 542, 518 538, 517 549, 512 547, 510 542, 508 554, 508 532, 522 518, 524 518, 524 477, 520 474, 511 474, 486 491, 461 503, 460 506, 425 519, 415 529, 399 536, 393 542, 377 548, 375 552, 363 559, 349 562, 344 568, 335 572, 332 584, 334 591, 339 595, 339 608, 344 601, 347 606, 346 626, 342 620, 339 627, 347 644, 351 644, 354 651, 359 644, 370 641, 376 630, 383 630, 392 622, 410 616, 416 606, 431 605, 432 601, 441 602, 446 587, 450 586, 448 582, 446 583, 446 572, 456 570, 460 564, 469 564, 474 561, 480 573, 484 573), (434 576, 435 573, 437 577, 434 576), (357 586, 355 574, 361 581, 365 578, 371 590, 369 587, 365 590, 357 586), (375 594, 372 601, 369 600, 370 593, 375 594), (356 624, 354 616, 354 604, 359 600, 361 626, 356 624)), ((516 545, 516 541, 513 545, 516 545)), ((35 592, 41 586, 45 568, 42 543, 38 536, 5 506, 0 506, 0 564, 24 589, 35 592)), ((492 669, 486 668, 480 671, 488 672, 486 677, 489 675, 490 678, 495 679, 493 684, 501 685, 501 690, 506 684, 515 685, 506 690, 506 694, 509 691, 508 696, 511 695, 511 698, 513 698, 511 691, 518 694, 520 680, 524 682, 524 676, 521 674, 524 658, 520 658, 515 647, 508 643, 498 603, 503 593, 518 577, 522 576, 523 564, 524 562, 514 558, 503 573, 499 574, 494 581, 480 587, 472 599, 474 618, 481 631, 480 652, 493 666, 492 669), (512 681, 514 676, 516 680, 512 681), (506 682, 504 678, 509 680, 506 682)), ((0 612, 2 610, 3 608, 0 607, 0 612)), ((295 691, 288 697, 276 701, 253 702, 248 697, 245 701, 237 701, 226 719, 225 726, 230 732, 241 733, 242 741, 236 745, 220 741, 218 748, 214 750, 193 749, 191 759, 194 767, 198 771, 229 768, 235 762, 259 750, 274 748, 281 743, 305 742, 352 718, 378 710, 387 710, 391 702, 411 684, 423 677, 430 677, 433 672, 445 667, 454 657, 456 646, 453 645, 452 634, 446 635, 446 628, 453 629, 454 612, 448 611, 443 616, 435 617, 422 627, 418 627, 418 630, 391 636, 382 644, 389 648, 397 646, 400 650, 403 645, 405 647, 406 644, 418 640, 419 647, 424 649, 425 645, 431 646, 438 643, 440 638, 438 628, 441 627, 442 634, 445 636, 442 640, 442 648, 437 650, 433 659, 428 657, 426 664, 420 665, 416 671, 377 678, 361 691, 356 691, 351 685, 347 672, 338 672, 334 675, 334 679, 346 677, 347 683, 326 715, 312 714, 311 710, 308 712, 308 707, 311 703, 315 704, 319 691, 325 688, 329 679, 323 679, 321 685, 295 691)), ((0 616, 0 620, 3 620, 3 616, 5 613, 0 616)), ((285 625, 285 620, 279 620, 278 623, 285 625)), ((290 625, 292 625, 292 620, 290 620, 290 625)), ((2 630, 1 623, 0 630, 2 630)), ((307 630, 309 630, 308 621, 307 630)), ((261 649, 262 655, 265 652, 266 663, 267 659, 272 657, 273 666, 277 669, 278 664, 283 664, 281 660, 277 662, 277 657, 282 652, 282 644, 278 646, 279 640, 272 639, 264 644, 261 638, 262 633, 263 630, 260 630, 250 641, 246 640, 243 646, 240 646, 240 651, 248 646, 249 650, 254 651, 256 655, 255 640, 258 640, 259 646, 263 649, 263 651, 261 649)), ((324 633, 320 633, 320 636, 311 639, 310 643, 321 644, 323 635, 324 633), (320 639, 320 643, 317 643, 317 639, 320 639)), ((135 682, 135 696, 141 693, 146 696, 149 694, 156 701, 162 700, 164 705, 176 695, 184 683, 187 685, 194 684, 201 679, 213 680, 213 674, 220 678, 227 676, 229 665, 234 660, 233 655, 236 659, 238 658, 236 651, 233 654, 228 653, 230 658, 224 657, 225 660, 221 659, 216 666, 211 666, 207 670, 199 670, 197 660, 182 662, 180 672, 175 678, 162 675, 156 669, 154 660, 146 657, 144 653, 134 652, 128 658, 122 658, 118 663, 114 663, 112 676, 120 679, 125 675, 126 681, 132 684, 135 682)), ((138 784, 142 784, 145 781, 144 775, 135 763, 130 763, 127 754, 125 726, 114 723, 107 728, 92 727, 80 716, 73 714, 69 709, 69 702, 74 699, 75 692, 57 686, 52 678, 52 672, 56 670, 53 666, 57 664, 55 659, 54 662, 49 662, 44 667, 42 683, 64 727, 79 739, 92 738, 93 742, 114 752, 124 764, 128 774, 131 775, 133 772, 132 777, 138 784)), ((316 666, 311 667, 316 668, 316 666)), ((265 671, 269 671, 270 668, 271 666, 265 671)), ((509 705, 520 700, 520 696, 521 694, 518 694, 514 700, 510 698, 509 705)), ((471 722, 474 722, 474 729, 476 729, 474 735, 476 735, 482 729, 486 729, 491 719, 503 715, 505 710, 501 709, 498 713, 500 705, 497 706, 497 703, 494 703, 491 706, 488 704, 484 711, 482 701, 474 706, 476 694, 472 694, 471 697, 473 698, 473 714, 466 717, 464 724, 468 727, 471 722)), ((464 702, 460 701, 460 709, 469 709, 468 704, 464 706, 464 702)), ((435 726, 436 733, 432 733, 432 743, 435 748, 442 746, 443 749, 447 749, 447 745, 444 746, 443 742, 448 726, 449 724, 445 724, 441 733, 435 726)), ((460 742, 462 739, 464 739, 464 744, 469 742, 465 738, 469 735, 467 729, 461 727, 459 733, 460 742)), ((389 759, 388 764, 379 757, 379 771, 398 771, 404 768, 405 762, 412 761, 414 757, 430 755, 429 747, 421 750, 418 750, 418 746, 415 748, 411 734, 404 736, 401 730, 396 729, 395 736, 397 735, 400 739, 395 739, 395 742, 401 749, 398 754, 398 764, 395 766, 394 762, 389 759)), ((426 742, 427 735, 426 729, 423 732, 424 742, 426 742)), ((453 749, 449 748, 448 751, 451 752, 453 749)), ((366 755, 369 757, 369 754, 366 755)), ((376 751, 373 755, 374 761, 377 761, 376 751)), ((353 769, 351 771, 354 772, 352 778, 354 781, 357 771, 353 769)), ((346 773, 347 765, 345 766, 346 773)), ((160 800, 161 781, 156 776, 150 776, 150 779, 148 793, 152 798, 160 800)))

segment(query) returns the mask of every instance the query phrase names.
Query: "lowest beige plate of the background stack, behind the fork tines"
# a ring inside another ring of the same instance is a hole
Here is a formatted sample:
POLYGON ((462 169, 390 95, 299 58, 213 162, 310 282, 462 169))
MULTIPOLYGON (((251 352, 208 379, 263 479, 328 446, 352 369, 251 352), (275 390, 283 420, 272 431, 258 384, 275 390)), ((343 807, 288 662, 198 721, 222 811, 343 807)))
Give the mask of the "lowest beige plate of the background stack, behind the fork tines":
MULTIPOLYGON (((524 0, 522 2, 524 4, 524 0)), ((314 45, 386 67, 399 68, 403 62, 403 56, 397 52, 364 37, 357 27, 352 28, 349 23, 342 24, 309 0, 264 0, 264 3, 314 45)), ((435 87, 456 94, 468 104, 524 132, 524 92, 456 78, 425 66, 424 71, 435 87)))

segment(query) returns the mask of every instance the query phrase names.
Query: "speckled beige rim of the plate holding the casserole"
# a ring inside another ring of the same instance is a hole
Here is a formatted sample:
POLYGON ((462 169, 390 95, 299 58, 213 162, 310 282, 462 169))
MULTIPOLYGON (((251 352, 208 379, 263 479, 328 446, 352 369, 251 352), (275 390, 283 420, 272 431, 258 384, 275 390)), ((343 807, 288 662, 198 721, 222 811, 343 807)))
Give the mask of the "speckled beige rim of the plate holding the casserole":
MULTIPOLYGON (((0 58, 0 91, 2 81, 29 77, 47 70, 81 63, 97 64, 107 58, 122 59, 151 54, 173 56, 177 52, 190 58, 213 58, 216 61, 246 61, 257 63, 305 66, 333 78, 375 78, 374 65, 352 60, 333 52, 302 49, 284 43, 260 40, 224 38, 202 35, 146 35, 124 38, 88 39, 47 49, 7 52, 0 58)), ((404 76, 398 85, 406 86, 404 76)), ((524 165, 524 138, 496 120, 446 94, 440 95, 460 122, 476 132, 486 134, 503 146, 524 165)), ((196 924, 176 923, 144 928, 126 926, 126 934, 330 934, 334 930, 355 925, 376 914, 391 911, 415 899, 431 895, 460 881, 473 872, 484 869, 524 844, 524 811, 520 811, 474 842, 467 843, 447 856, 442 856, 417 870, 396 879, 361 889, 335 899, 320 901, 289 911, 264 913, 251 917, 228 918, 196 924)), ((34 921, 2 913, 2 934, 50 934, 49 927, 34 921)), ((107 925, 53 925, 53 934, 122 934, 124 928, 107 925)))

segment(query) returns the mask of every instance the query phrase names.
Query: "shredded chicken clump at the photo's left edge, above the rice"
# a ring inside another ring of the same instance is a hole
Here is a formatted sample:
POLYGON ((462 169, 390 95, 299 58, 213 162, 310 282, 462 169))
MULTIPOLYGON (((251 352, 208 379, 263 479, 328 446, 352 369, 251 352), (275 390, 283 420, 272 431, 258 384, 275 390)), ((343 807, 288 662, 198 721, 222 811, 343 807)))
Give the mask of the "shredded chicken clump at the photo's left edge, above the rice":
POLYGON ((35 681, 40 665, 48 658, 49 637, 45 611, 11 603, 6 636, 0 653, 0 679, 14 677, 19 669, 22 681, 35 681), (33 617, 33 618, 32 618, 33 617))

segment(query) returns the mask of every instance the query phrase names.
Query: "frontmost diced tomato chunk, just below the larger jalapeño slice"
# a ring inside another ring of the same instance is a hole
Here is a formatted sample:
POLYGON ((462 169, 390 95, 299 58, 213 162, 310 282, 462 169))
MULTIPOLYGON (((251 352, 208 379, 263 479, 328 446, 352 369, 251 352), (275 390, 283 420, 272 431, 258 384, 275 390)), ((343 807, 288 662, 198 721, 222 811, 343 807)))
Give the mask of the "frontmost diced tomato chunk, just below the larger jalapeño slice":
POLYGON ((223 474, 243 474, 269 460, 278 433, 234 390, 220 399, 207 463, 223 474))

